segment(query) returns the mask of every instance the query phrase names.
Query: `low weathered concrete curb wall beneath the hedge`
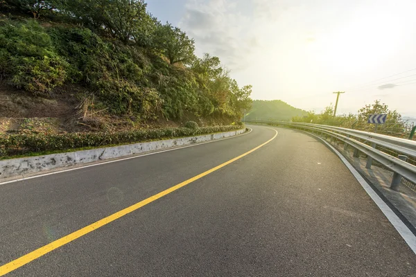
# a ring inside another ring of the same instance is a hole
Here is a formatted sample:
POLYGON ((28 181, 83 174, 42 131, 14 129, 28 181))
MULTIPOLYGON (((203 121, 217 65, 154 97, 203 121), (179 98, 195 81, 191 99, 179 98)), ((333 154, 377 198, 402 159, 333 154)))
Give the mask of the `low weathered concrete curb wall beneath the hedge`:
POLYGON ((0 180, 10 177, 21 177, 31 175, 36 172, 76 166, 83 163, 103 161, 107 159, 120 158, 135 154, 142 154, 154 150, 163 150, 193 143, 214 141, 224 139, 229 136, 236 136, 245 132, 244 129, 236 131, 222 132, 216 134, 205 134, 202 136, 188 136, 178 139, 166 139, 163 141, 150 141, 146 143, 135 143, 119 145, 108 148, 96 148, 77 152, 49 154, 45 156, 26 157, 0 161, 0 180))

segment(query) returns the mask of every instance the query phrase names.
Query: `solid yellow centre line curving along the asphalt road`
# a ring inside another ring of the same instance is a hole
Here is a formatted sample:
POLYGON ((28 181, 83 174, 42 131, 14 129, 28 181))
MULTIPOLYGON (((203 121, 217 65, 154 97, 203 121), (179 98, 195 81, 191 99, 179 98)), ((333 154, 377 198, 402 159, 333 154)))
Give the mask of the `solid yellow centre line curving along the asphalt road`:
POLYGON ((148 197, 147 199, 144 199, 139 203, 136 203, 128 208, 124 208, 121 211, 118 211, 116 213, 113 213, 112 215, 104 217, 102 220, 98 220, 97 222, 94 222, 93 224, 89 224, 88 226, 85 226, 83 229, 79 229, 78 231, 70 233, 69 235, 65 235, 63 238, 60 238, 58 240, 55 240, 54 242, 46 244, 44 247, 40 247, 36 249, 35 251, 32 251, 31 253, 27 253, 26 255, 21 256, 20 258, 17 258, 16 260, 12 260, 11 262, 8 262, 6 265, 2 265, 0 267, 0 276, 8 274, 10 271, 18 269, 19 267, 26 265, 28 262, 36 260, 37 258, 40 258, 41 256, 44 256, 46 253, 49 253, 53 251, 54 249, 62 247, 63 245, 73 240, 76 240, 77 238, 80 238, 83 235, 86 235, 87 233, 90 233, 100 228, 101 226, 104 226, 105 224, 109 224, 110 222, 113 222, 114 220, 117 220, 120 217, 123 217, 124 215, 131 213, 132 211, 136 211, 138 208, 141 208, 142 206, 145 206, 161 197, 164 197, 165 195, 168 195, 169 193, 172 193, 175 190, 182 188, 183 186, 187 186, 187 184, 190 184, 193 181, 196 181, 206 175, 209 175, 209 173, 211 172, 214 172, 220 168, 223 168, 224 166, 227 166, 229 163, 232 163, 238 159, 241 159, 247 156, 248 154, 256 151, 257 149, 263 147, 267 143, 270 143, 270 141, 276 138, 277 131, 275 129, 272 129, 272 130, 276 132, 275 136, 273 136, 272 139, 269 139, 265 143, 262 143, 261 145, 257 146, 257 148, 253 148, 252 150, 245 152, 244 154, 241 154, 239 157, 235 157, 234 159, 226 161, 225 163, 222 163, 219 166, 216 166, 215 168, 211 168, 210 170, 207 170, 201 173, 200 175, 196 175, 195 177, 192 177, 191 179, 187 179, 187 181, 183 181, 182 183, 177 184, 176 186, 168 188, 167 190, 163 190, 162 192, 157 193, 156 195, 153 195, 151 197, 148 197))

